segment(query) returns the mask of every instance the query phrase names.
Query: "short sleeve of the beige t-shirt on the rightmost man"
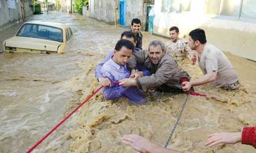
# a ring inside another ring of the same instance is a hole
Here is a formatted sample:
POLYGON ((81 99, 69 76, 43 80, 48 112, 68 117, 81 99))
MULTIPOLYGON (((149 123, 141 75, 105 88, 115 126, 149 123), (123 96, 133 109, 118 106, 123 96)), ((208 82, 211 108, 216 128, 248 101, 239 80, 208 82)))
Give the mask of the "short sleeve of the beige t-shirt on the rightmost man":
POLYGON ((208 57, 205 58, 205 68, 206 68, 206 73, 210 72, 218 72, 218 60, 216 56, 214 55, 209 55, 208 57))

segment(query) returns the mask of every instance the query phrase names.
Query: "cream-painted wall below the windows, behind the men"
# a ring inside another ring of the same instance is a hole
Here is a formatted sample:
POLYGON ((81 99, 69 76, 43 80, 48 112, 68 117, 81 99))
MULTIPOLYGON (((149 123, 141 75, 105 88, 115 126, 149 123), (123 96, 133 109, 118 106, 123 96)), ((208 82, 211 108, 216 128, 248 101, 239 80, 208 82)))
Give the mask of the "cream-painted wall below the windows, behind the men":
POLYGON ((169 28, 177 26, 180 37, 185 37, 195 28, 206 31, 209 43, 222 51, 256 61, 256 20, 240 21, 234 18, 207 16, 202 13, 164 13, 161 2, 155 1, 154 34, 169 36, 169 28))

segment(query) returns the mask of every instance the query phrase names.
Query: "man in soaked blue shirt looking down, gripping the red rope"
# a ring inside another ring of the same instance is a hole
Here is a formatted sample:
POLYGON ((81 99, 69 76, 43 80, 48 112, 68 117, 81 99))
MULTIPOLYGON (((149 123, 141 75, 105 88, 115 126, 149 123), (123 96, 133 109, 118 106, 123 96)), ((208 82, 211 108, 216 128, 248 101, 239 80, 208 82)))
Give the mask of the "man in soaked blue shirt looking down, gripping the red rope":
MULTIPOLYGON (((114 55, 102 65, 100 73, 111 82, 117 82, 130 77, 130 71, 126 68, 126 62, 132 55, 134 44, 129 40, 119 40, 116 43, 114 55)), ((125 88, 118 84, 112 84, 103 88, 103 95, 107 100, 126 97, 131 103, 142 105, 147 102, 137 87, 125 88)))

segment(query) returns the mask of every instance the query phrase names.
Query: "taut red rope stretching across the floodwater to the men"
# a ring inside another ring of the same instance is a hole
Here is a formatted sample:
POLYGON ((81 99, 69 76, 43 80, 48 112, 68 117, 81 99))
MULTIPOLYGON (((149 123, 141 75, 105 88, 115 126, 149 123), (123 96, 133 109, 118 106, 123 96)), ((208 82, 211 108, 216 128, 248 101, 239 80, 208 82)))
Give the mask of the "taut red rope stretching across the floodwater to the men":
MULTIPOLYGON (((118 84, 119 82, 111 82, 111 84, 118 84)), ((39 141, 37 141, 33 147, 31 147, 26 153, 32 152, 37 146, 39 146, 40 143, 43 142, 44 139, 46 139, 52 132, 54 132, 60 125, 64 123, 74 112, 76 112, 82 105, 84 105, 93 95, 95 95, 97 92, 99 92, 103 86, 98 88, 94 91, 93 94, 89 95, 84 102, 82 102, 80 105, 77 106, 76 109, 74 109, 72 112, 70 112, 64 119, 62 119, 57 125, 55 125, 46 135, 44 135, 39 141)))

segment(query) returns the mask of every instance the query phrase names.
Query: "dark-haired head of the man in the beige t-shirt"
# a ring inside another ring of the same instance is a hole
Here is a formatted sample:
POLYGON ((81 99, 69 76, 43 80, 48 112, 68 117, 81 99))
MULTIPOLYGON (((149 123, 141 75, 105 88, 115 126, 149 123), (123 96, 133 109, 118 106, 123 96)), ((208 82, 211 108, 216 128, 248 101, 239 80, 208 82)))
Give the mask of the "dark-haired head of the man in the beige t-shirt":
POLYGON ((192 50, 196 50, 199 45, 206 42, 205 30, 194 29, 189 33, 189 43, 192 50))

